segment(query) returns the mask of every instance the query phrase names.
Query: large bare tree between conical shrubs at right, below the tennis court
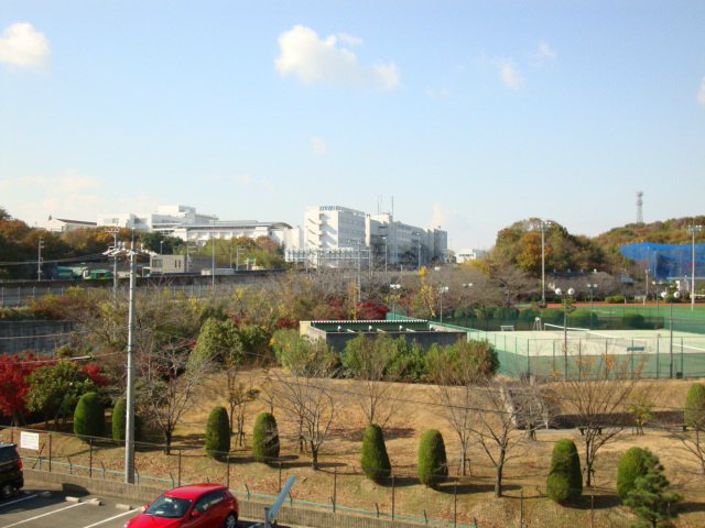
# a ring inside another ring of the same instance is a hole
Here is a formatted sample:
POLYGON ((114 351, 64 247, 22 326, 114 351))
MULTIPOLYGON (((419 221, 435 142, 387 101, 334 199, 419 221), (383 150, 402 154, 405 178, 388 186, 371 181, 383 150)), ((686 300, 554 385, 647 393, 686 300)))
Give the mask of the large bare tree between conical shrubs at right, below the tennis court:
MULTIPOLYGON (((573 415, 585 446, 585 485, 593 484, 597 452, 616 441, 629 425, 625 414, 641 380, 644 359, 614 353, 566 352, 575 369, 552 385, 563 411, 573 415)), ((566 363, 567 364, 567 363, 566 363)))

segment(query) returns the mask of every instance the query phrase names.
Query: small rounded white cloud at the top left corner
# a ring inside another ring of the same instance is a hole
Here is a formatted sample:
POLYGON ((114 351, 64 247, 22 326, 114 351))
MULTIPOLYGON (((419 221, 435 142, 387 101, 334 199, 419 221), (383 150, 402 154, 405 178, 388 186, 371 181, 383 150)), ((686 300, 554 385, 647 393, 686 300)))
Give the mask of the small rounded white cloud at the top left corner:
POLYGON ((0 63, 23 68, 42 68, 48 64, 52 50, 43 33, 26 22, 9 25, 0 37, 0 63))

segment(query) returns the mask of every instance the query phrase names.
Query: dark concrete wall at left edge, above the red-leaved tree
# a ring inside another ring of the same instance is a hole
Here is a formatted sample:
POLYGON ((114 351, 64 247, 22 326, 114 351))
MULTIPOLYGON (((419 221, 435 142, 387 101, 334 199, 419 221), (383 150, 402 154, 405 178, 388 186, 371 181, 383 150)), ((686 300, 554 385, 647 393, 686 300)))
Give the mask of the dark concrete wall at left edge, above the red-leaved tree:
POLYGON ((74 321, 0 321, 0 354, 50 352, 70 340, 70 336, 55 334, 70 332, 75 326, 74 321))

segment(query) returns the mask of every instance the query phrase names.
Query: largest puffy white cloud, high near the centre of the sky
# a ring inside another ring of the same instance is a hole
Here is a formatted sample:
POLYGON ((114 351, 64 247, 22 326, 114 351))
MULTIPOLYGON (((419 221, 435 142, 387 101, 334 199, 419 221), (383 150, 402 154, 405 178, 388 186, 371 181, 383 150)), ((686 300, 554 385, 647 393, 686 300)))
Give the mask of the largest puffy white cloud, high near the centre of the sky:
POLYGON ((399 68, 394 63, 360 64, 355 53, 337 46, 338 38, 346 42, 335 35, 322 40, 311 28, 295 25, 279 35, 281 54, 274 62, 275 67, 281 75, 294 74, 305 84, 379 90, 400 85, 399 68))

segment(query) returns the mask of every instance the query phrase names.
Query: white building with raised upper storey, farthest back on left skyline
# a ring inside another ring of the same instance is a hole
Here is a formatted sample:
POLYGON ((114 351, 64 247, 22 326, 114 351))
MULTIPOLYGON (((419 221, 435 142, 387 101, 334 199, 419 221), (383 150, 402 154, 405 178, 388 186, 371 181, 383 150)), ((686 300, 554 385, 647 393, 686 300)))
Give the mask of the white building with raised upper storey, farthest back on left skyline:
POLYGON ((195 207, 159 206, 156 212, 111 212, 98 215, 98 226, 137 229, 141 231, 160 231, 172 234, 177 226, 189 223, 207 223, 218 220, 215 215, 200 215, 195 207))

